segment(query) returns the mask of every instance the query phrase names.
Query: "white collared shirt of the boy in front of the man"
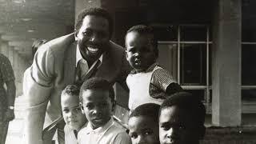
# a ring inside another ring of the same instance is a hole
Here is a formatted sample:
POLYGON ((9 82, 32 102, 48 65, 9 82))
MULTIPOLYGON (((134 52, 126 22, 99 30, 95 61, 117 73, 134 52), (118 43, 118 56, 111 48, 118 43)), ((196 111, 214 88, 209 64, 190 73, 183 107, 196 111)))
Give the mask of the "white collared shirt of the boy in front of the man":
POLYGON ((92 129, 90 122, 78 132, 79 144, 131 144, 125 130, 118 127, 113 118, 105 126, 92 129))

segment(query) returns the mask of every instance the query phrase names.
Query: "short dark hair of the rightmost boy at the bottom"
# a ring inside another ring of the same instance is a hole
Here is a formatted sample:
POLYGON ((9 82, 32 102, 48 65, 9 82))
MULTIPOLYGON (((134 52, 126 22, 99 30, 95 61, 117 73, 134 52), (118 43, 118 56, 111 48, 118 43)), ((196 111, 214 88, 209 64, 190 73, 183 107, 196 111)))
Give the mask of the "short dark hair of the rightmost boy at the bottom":
POLYGON ((182 110, 189 111, 190 114, 194 114, 194 118, 198 122, 198 126, 204 125, 206 107, 197 97, 193 97, 192 94, 187 92, 178 92, 172 94, 169 98, 162 102, 159 115, 161 114, 162 109, 168 108, 170 106, 178 106, 182 110))

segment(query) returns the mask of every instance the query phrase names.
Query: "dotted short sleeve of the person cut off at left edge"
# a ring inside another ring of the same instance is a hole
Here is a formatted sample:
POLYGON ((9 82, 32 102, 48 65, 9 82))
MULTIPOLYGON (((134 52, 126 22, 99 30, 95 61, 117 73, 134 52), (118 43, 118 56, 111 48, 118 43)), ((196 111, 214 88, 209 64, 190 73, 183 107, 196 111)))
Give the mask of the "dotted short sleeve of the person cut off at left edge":
POLYGON ((10 64, 9 59, 6 57, 2 58, 1 73, 2 73, 2 79, 4 82, 14 81, 15 79, 14 70, 10 64))

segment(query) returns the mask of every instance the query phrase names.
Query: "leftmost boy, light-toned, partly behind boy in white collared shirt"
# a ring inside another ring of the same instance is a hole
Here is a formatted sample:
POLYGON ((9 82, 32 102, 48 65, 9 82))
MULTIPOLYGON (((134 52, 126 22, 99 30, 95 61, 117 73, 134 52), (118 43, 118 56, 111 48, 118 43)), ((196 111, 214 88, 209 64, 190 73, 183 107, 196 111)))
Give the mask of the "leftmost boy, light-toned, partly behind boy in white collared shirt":
POLYGON ((77 134, 80 128, 87 122, 79 106, 79 88, 69 85, 62 90, 61 95, 62 114, 66 126, 64 127, 65 143, 77 144, 77 134))

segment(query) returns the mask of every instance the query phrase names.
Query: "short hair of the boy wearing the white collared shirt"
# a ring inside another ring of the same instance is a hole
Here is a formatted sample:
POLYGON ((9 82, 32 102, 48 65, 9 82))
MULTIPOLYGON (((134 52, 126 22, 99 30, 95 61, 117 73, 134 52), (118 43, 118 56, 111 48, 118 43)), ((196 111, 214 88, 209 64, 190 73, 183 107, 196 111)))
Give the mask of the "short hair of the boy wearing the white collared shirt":
POLYGON ((80 102, 82 102, 82 91, 83 90, 107 90, 110 93, 110 99, 112 102, 114 102, 114 89, 113 86, 104 78, 89 78, 85 82, 82 83, 81 89, 80 89, 80 102))

